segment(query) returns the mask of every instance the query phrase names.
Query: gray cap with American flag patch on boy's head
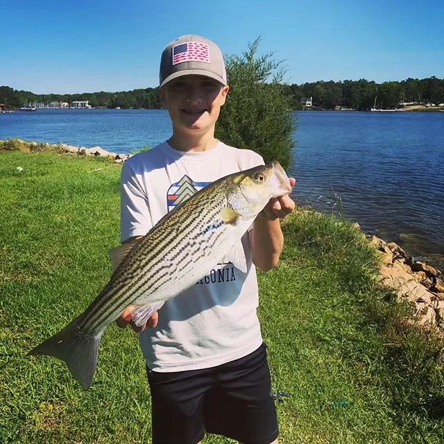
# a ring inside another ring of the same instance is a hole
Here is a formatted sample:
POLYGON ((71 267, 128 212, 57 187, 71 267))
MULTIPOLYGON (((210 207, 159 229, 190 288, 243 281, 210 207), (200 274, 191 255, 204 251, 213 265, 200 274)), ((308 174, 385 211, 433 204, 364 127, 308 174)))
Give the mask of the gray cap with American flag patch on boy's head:
POLYGON ((170 42, 160 60, 160 87, 173 78, 195 74, 227 84, 222 52, 214 42, 200 35, 182 35, 170 42))

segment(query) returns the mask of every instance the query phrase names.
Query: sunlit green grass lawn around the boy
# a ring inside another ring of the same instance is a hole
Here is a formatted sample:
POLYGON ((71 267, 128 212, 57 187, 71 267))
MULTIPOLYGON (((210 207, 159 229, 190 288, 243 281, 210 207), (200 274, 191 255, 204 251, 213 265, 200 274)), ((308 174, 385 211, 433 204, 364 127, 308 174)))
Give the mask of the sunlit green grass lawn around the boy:
MULTIPOLYGON (((120 168, 0 152, 0 443, 151 441, 133 332, 108 328, 88 391, 61 361, 26 357, 108 281, 120 168)), ((409 327, 409 307, 377 288, 362 234, 311 211, 293 214, 284 233, 279 266, 259 273, 273 388, 291 394, 277 402, 280 443, 443 443, 443 344, 409 327)))

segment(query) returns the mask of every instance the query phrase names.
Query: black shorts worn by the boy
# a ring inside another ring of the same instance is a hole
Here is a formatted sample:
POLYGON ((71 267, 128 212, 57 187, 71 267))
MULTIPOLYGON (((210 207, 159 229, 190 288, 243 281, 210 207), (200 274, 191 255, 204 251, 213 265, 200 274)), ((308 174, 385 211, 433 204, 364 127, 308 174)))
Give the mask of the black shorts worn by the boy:
POLYGON ((205 432, 244 444, 278 437, 266 345, 246 357, 203 370, 148 369, 153 444, 196 444, 205 432))

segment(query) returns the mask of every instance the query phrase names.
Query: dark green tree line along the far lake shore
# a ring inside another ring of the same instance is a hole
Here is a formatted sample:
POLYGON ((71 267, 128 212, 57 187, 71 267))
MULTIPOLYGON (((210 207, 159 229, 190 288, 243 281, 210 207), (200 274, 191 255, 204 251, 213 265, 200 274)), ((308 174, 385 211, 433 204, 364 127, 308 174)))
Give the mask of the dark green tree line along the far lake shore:
MULTIPOLYGON (((375 83, 373 80, 318 80, 313 83, 281 85, 293 110, 302 108, 301 99, 311 97, 314 107, 369 110, 398 108, 400 103, 444 103, 444 79, 407 78, 407 80, 375 83), (376 101, 376 103, 375 103, 376 101)), ((8 86, 0 87, 0 103, 7 108, 19 108, 28 103, 89 101, 94 108, 162 108, 158 88, 133 89, 121 92, 92 92, 83 94, 33 94, 8 86)))

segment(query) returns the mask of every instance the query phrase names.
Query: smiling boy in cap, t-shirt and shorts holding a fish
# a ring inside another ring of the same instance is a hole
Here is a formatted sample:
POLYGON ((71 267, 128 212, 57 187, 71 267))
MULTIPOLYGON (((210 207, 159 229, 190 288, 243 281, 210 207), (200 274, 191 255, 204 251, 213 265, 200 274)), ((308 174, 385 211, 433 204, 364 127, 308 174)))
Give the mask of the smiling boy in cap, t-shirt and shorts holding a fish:
MULTIPOLYGON (((160 96, 173 135, 123 164, 121 241, 142 237, 187 194, 264 163, 253 151, 214 138, 228 90, 223 56, 214 42, 184 35, 166 46, 160 96)), ((165 302, 148 321, 151 328, 132 324, 147 364, 154 444, 196 444, 205 431, 245 444, 277 443, 254 265, 268 271, 278 263, 279 219, 293 208, 289 196, 272 199, 244 235, 247 273, 219 264, 165 302)), ((123 311, 119 326, 131 323, 131 309, 123 311)))

